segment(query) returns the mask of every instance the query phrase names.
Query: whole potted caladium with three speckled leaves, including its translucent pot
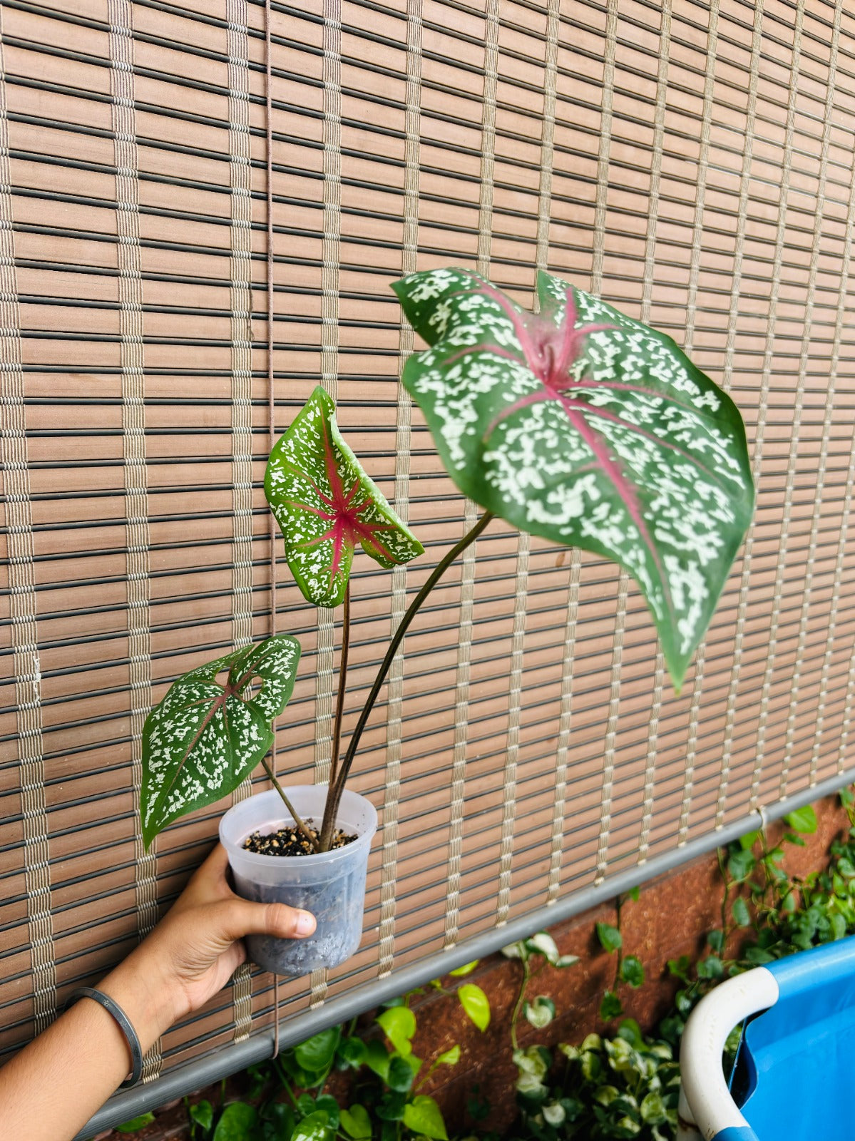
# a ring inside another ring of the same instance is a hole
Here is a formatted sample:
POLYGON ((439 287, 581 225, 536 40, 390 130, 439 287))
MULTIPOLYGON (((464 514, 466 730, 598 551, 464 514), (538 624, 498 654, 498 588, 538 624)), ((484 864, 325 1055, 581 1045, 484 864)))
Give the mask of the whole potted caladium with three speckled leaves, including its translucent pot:
POLYGON ((305 941, 299 962, 288 948, 281 955, 275 947, 250 948, 256 962, 284 973, 334 965, 358 942, 361 911, 347 939, 332 933, 340 932, 341 912, 354 911, 354 898, 361 909, 376 816, 345 784, 410 623, 492 518, 592 551, 632 575, 679 690, 753 510, 740 413, 671 338, 546 273, 538 277, 537 313, 466 269, 412 274, 393 289, 428 345, 408 361, 403 385, 421 407, 449 475, 484 513, 413 598, 342 748, 356 545, 385 568, 408 563, 422 548, 362 469, 338 430, 332 400, 317 388, 274 447, 265 491, 304 596, 317 606, 344 607, 329 784, 291 794, 266 761, 271 722, 288 702, 299 658, 288 636, 179 678, 150 714, 143 739, 146 843, 184 812, 231 792, 259 762, 265 766, 274 791, 235 806, 220 832, 234 849, 239 889, 282 898, 318 917, 315 946, 305 941), (245 806, 263 798, 256 820, 245 806), (241 863, 257 823, 274 835, 283 820, 305 853, 250 852, 258 874, 265 869, 261 879, 269 881, 272 868, 291 864, 308 876, 325 860, 334 871, 323 888, 265 882, 261 889, 241 863), (361 872, 341 871, 348 849, 363 860, 361 872), (345 881, 346 890, 336 887, 345 881))

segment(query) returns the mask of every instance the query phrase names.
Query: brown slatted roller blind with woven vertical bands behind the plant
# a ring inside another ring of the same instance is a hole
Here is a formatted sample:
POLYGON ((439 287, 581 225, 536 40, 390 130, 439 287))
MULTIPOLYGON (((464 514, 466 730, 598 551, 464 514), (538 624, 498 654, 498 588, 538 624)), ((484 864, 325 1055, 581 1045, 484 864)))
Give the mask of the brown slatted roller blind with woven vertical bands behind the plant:
MULTIPOLYGON (((756 524, 679 698, 614 566, 490 526, 364 738, 362 950, 282 1011, 846 768, 850 6, 6 0, 0 22, 0 1057, 215 835, 201 812, 142 849, 139 731, 170 680, 297 634, 276 766, 324 776, 340 613, 271 544, 268 400, 279 434, 323 383, 426 547, 388 575, 357 556, 350 725, 475 519, 397 383, 402 273, 476 267, 530 305, 549 268, 670 332, 744 412, 756 524)), ((244 970, 147 1076, 273 1004, 244 970)))

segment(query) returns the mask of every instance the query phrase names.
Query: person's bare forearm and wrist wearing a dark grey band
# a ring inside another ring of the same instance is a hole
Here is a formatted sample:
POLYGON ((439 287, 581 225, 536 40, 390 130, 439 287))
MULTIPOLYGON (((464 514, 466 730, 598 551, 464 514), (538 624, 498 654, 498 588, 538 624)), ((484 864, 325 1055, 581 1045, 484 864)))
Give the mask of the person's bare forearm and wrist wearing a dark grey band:
MULTIPOLYGON (((145 1053, 172 1022, 163 995, 140 986, 135 956, 98 984, 122 1008, 145 1053)), ((79 998, 0 1069, 0 1136, 70 1141, 130 1071, 128 1042, 113 1015, 79 998)))

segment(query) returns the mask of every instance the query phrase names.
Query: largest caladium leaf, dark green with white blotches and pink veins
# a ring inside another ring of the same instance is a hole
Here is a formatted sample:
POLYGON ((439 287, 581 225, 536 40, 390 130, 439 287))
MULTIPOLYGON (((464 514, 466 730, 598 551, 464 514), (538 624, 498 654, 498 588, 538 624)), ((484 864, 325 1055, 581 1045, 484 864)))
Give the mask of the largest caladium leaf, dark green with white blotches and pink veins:
POLYGON ((454 483, 638 582, 679 689, 753 509, 740 413, 670 337, 558 277, 540 311, 463 269, 393 286, 431 348, 403 383, 454 483))

